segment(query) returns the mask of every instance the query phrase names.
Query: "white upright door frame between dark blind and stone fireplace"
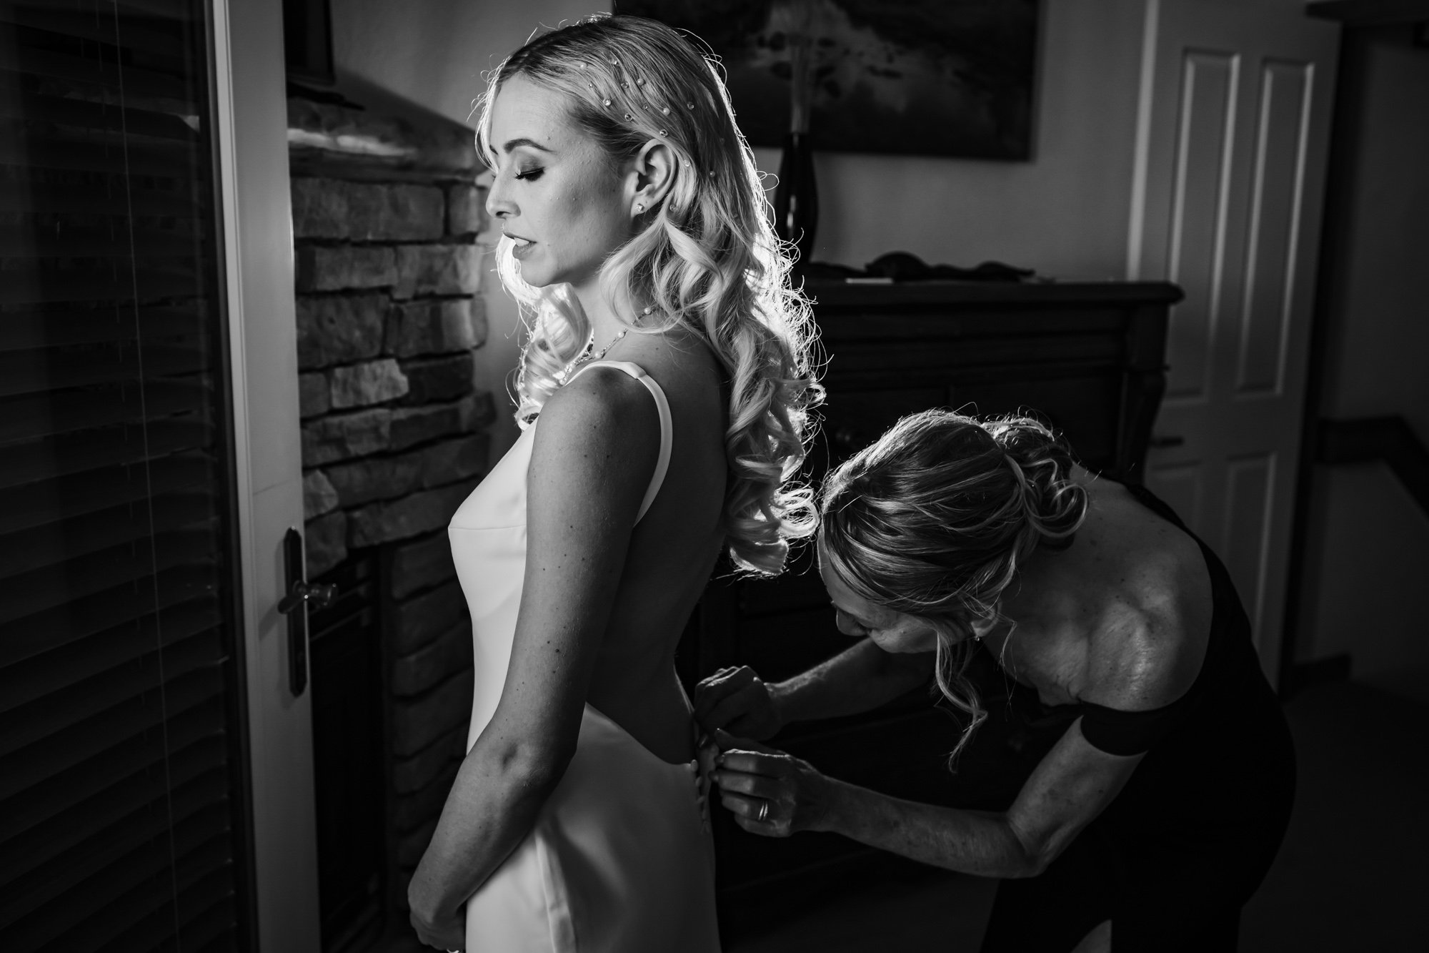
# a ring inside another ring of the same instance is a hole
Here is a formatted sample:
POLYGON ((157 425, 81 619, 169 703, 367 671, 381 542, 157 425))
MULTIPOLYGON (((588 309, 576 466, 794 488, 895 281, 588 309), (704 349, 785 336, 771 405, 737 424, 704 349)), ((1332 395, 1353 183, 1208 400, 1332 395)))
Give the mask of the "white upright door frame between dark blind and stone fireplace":
POLYGON ((262 953, 316 953, 312 693, 293 697, 283 535, 303 525, 282 0, 211 0, 242 651, 262 953))

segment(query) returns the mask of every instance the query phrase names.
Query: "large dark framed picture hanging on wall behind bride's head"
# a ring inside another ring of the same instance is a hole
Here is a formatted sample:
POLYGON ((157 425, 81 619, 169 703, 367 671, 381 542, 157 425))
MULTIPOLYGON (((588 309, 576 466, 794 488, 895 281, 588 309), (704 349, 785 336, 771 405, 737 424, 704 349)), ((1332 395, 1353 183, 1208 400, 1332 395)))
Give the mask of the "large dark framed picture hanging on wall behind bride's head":
POLYGON ((1032 156, 1037 0, 620 0, 616 13, 707 44, 750 145, 783 142, 797 79, 823 152, 1032 156))

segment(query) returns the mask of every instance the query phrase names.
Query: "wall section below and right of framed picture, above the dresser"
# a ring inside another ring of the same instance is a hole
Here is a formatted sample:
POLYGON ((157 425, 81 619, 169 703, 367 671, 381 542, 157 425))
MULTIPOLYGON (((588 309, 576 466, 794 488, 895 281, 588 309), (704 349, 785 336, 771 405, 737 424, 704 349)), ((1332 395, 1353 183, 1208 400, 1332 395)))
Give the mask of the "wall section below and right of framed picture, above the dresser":
MULTIPOLYGON (((1042 6, 1032 162, 820 155, 816 259, 863 265, 905 250, 1125 276, 1145 3, 1042 6)), ((776 172, 777 155, 760 150, 762 166, 776 172)))

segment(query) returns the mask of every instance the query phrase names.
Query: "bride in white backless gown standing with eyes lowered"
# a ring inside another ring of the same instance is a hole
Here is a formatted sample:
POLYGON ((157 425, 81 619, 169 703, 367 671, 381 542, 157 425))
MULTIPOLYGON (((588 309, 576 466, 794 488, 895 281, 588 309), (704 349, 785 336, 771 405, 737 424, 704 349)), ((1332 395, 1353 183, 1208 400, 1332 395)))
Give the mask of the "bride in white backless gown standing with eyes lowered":
POLYGON ((493 73, 477 145, 530 336, 523 428, 449 529, 469 751, 409 890, 439 949, 716 952, 709 814, 674 647, 727 547, 815 528, 806 302, 713 66, 597 16, 493 73))

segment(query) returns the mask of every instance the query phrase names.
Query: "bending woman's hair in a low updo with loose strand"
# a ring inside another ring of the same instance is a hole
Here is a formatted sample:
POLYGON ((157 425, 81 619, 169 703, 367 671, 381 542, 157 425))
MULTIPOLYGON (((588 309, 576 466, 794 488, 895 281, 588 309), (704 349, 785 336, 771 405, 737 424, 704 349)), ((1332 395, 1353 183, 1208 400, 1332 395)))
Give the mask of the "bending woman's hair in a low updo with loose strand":
POLYGON ((975 630, 1002 618, 1023 559, 1072 545, 1086 518, 1072 466, 1066 441, 1030 416, 925 411, 823 484, 819 534, 833 572, 937 631, 937 687, 969 715, 953 758, 986 718, 965 675, 975 630))

